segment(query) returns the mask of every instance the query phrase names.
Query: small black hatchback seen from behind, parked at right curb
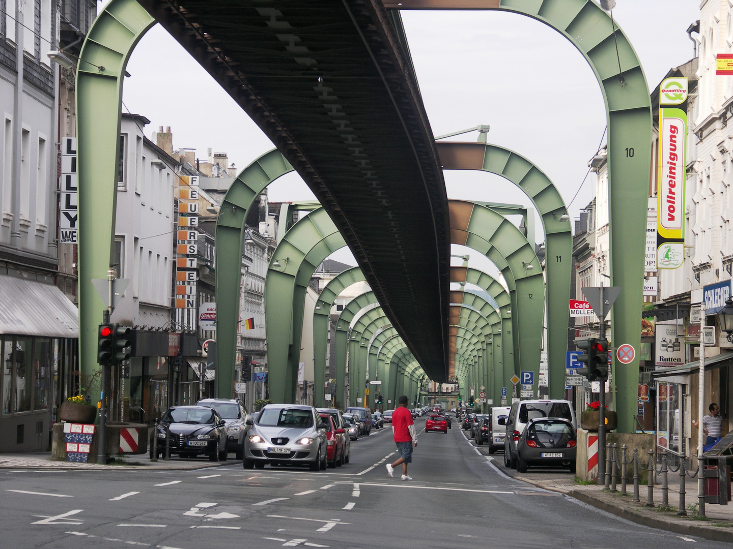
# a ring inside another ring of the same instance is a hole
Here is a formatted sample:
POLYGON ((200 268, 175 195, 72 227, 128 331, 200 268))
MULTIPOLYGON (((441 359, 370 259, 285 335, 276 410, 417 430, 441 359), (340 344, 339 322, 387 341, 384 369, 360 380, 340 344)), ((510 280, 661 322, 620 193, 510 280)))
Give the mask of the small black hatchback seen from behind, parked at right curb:
POLYGON ((561 466, 575 471, 577 438, 572 423, 559 417, 530 419, 517 441, 517 471, 532 466, 561 466))

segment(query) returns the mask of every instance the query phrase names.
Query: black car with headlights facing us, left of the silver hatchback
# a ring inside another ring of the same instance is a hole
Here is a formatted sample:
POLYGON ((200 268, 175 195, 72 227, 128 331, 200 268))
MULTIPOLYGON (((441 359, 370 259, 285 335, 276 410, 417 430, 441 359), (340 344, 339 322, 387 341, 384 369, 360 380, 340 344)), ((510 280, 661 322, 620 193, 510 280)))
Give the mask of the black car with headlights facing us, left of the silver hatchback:
POLYGON ((226 460, 226 431, 224 419, 218 411, 207 406, 173 406, 158 423, 158 450, 153 452, 150 444, 150 458, 160 458, 166 452, 166 443, 171 454, 181 458, 195 458, 207 455, 211 461, 226 460), (167 438, 166 438, 167 436, 167 438))

